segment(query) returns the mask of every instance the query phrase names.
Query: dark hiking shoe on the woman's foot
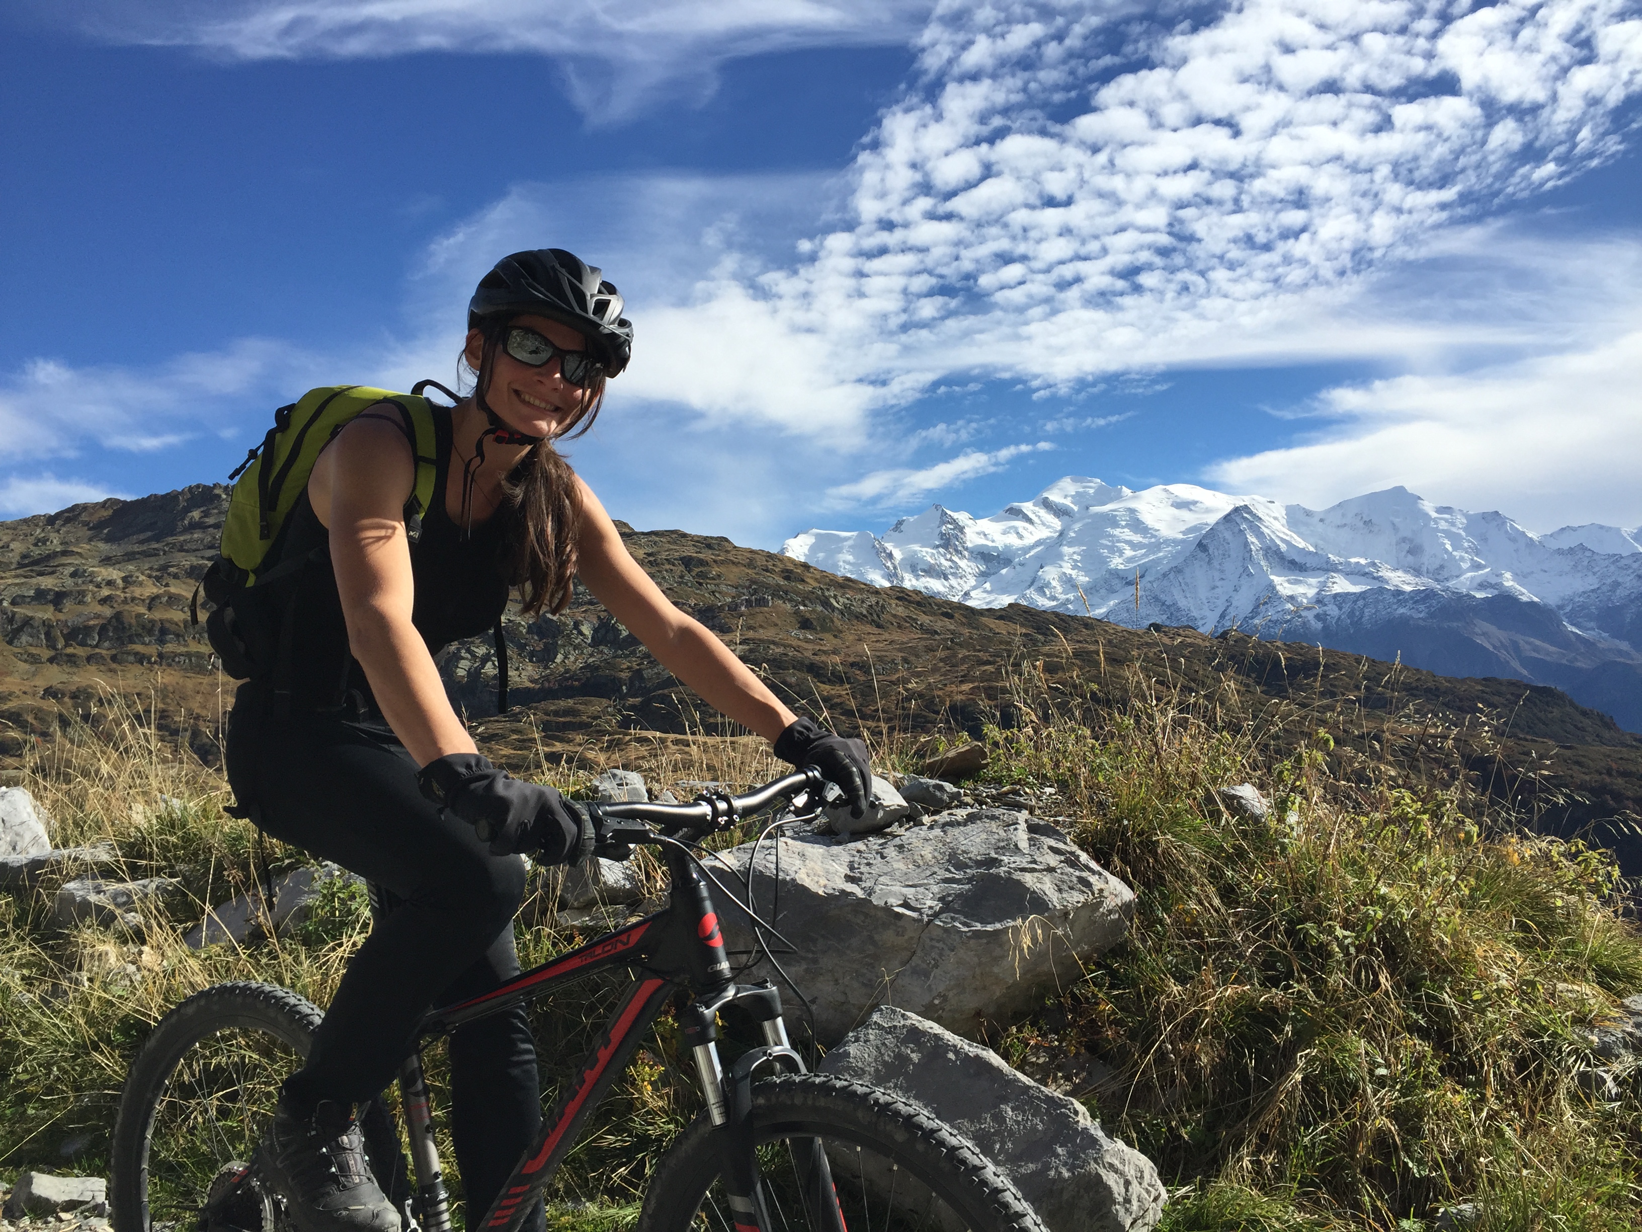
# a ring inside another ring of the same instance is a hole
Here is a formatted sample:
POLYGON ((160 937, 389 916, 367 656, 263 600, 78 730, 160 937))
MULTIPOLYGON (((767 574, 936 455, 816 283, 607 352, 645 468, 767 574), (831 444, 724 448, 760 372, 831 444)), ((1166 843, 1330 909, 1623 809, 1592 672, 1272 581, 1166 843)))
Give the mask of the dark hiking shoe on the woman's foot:
POLYGON ((320 1101, 312 1117, 281 1104, 256 1165, 300 1232, 399 1232, 399 1212, 365 1160, 365 1135, 340 1104, 320 1101))

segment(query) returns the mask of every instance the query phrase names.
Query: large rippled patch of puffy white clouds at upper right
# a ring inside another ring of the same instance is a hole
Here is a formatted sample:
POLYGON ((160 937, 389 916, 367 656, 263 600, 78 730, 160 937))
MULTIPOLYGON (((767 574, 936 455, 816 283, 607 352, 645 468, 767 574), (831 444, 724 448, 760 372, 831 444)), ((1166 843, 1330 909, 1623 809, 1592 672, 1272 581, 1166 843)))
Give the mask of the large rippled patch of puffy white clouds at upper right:
POLYGON ((924 89, 857 159, 857 225, 762 286, 793 329, 895 338, 862 355, 878 381, 975 356, 1059 386, 1429 350, 1353 327, 1363 276, 1611 156, 1642 90, 1634 15, 1246 0, 1148 28, 1110 5, 947 3, 924 89), (1144 67, 1113 71, 1123 39, 1144 67))

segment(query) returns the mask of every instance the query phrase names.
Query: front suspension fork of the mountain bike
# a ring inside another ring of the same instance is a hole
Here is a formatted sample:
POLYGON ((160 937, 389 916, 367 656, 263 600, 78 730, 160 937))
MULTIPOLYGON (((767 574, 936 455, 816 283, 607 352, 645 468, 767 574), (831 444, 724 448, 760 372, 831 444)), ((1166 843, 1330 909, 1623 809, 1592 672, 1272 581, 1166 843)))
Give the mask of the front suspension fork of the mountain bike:
MULTIPOLYGON (((759 1176, 759 1150, 752 1124, 752 1076, 764 1064, 778 1064, 803 1073, 803 1058, 787 1038, 782 1000, 775 987, 729 989, 724 1002, 734 1000, 750 1012, 764 1035, 764 1046, 754 1048, 724 1073, 718 1056, 718 1007, 691 1005, 680 1015, 685 1043, 696 1063, 696 1078, 706 1097, 708 1117, 719 1138, 724 1194, 736 1232, 777 1232, 764 1198, 759 1176)), ((819 1138, 810 1143, 808 1168, 801 1175, 805 1209, 813 1212, 811 1232, 849 1232, 844 1211, 832 1184, 832 1166, 819 1138)))

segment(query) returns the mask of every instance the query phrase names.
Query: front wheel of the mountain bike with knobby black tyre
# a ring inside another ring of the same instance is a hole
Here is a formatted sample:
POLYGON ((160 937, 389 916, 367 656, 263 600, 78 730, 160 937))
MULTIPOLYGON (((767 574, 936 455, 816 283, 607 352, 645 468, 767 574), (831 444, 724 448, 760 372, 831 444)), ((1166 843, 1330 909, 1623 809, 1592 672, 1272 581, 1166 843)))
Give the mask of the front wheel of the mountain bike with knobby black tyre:
MULTIPOLYGON (((836 1232, 841 1224, 855 1232, 1044 1232, 974 1143, 887 1091, 828 1074, 768 1078, 754 1083, 752 1122, 775 1232, 836 1232), (816 1183, 818 1150, 831 1166, 831 1202, 816 1183)), ((737 1232, 721 1166, 713 1124, 701 1115, 655 1165, 635 1232, 737 1232)))

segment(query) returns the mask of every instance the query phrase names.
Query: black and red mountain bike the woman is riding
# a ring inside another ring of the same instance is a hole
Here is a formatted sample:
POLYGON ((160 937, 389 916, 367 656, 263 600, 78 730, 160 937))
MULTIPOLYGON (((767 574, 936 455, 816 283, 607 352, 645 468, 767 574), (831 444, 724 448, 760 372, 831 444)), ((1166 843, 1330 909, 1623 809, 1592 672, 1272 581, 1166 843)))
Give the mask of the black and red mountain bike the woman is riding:
MULTIPOLYGON (((639 844, 657 849, 672 882, 668 905, 424 1017, 397 1079, 404 1138, 389 1092, 360 1114, 371 1168, 406 1232, 452 1232, 424 1046, 599 971, 627 972, 626 992, 481 1221, 484 1232, 517 1232, 593 1107, 668 1009, 704 1110, 655 1161, 637 1232, 1043 1232, 1015 1186, 967 1138, 885 1091, 808 1073, 777 987, 736 982, 719 899, 752 922, 755 954, 762 938, 780 935, 726 889, 698 854, 699 843, 800 795, 819 800, 821 790, 821 775, 806 769, 747 795, 708 790, 683 805, 591 807, 611 854, 639 844), (724 1014, 755 1023, 762 1040, 731 1064, 718 1046, 724 1014)), ((373 910, 384 908, 373 894, 373 910)), ((279 1198, 246 1161, 320 1017, 287 989, 233 982, 197 992, 161 1018, 131 1063, 115 1124, 117 1232, 282 1232, 279 1198)))

